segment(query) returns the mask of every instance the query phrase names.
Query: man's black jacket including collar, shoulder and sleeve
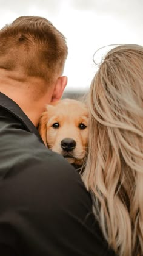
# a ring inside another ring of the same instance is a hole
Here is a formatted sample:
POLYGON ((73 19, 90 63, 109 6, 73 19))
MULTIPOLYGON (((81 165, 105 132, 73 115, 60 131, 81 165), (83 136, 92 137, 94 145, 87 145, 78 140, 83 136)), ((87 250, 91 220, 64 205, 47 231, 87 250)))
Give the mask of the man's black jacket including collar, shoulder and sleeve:
POLYGON ((30 119, 2 93, 0 255, 113 255, 78 173, 45 148, 30 119))

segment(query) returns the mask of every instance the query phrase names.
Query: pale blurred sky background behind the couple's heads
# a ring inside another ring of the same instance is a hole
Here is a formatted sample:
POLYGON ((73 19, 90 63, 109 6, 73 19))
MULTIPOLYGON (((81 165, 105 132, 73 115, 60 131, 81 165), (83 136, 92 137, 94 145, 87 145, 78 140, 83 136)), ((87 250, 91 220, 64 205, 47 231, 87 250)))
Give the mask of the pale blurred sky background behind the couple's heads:
MULTIPOLYGON (((142 0, 0 0, 0 28, 22 15, 44 16, 67 38, 64 97, 88 91, 97 71, 94 52, 108 44, 143 44, 142 0)), ((108 51, 95 54, 97 63, 108 51)))

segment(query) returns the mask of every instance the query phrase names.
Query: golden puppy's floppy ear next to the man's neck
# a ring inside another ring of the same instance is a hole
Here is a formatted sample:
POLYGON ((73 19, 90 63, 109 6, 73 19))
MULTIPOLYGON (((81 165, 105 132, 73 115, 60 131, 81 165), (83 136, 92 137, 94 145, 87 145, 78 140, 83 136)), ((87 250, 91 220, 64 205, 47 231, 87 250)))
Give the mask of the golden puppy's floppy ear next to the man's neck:
POLYGON ((45 146, 47 147, 47 111, 42 113, 41 118, 39 119, 38 132, 41 135, 42 140, 44 141, 45 146))

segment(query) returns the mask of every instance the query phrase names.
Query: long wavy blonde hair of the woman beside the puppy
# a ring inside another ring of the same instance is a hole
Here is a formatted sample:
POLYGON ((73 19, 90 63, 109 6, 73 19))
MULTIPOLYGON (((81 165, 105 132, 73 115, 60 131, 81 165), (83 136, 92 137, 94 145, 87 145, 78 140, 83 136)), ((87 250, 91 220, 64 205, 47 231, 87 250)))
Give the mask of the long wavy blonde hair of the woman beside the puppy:
POLYGON ((83 180, 102 233, 122 256, 143 255, 143 48, 106 55, 90 87, 83 180))

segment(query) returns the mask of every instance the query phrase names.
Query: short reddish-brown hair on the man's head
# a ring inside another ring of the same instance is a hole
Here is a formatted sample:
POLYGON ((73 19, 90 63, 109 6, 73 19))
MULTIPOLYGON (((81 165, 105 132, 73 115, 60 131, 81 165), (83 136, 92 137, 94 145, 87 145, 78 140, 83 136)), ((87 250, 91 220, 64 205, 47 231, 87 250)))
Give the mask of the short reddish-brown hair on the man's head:
POLYGON ((0 68, 22 70, 51 84, 66 57, 64 35, 45 18, 21 16, 0 30, 0 68))

